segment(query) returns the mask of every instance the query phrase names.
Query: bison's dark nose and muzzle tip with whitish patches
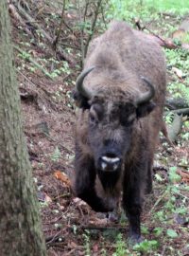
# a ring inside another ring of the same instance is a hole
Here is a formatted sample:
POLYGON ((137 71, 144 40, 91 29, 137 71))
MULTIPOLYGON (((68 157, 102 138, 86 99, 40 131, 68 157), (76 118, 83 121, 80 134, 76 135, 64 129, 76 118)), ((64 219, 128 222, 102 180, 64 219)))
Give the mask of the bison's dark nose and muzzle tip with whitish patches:
POLYGON ((121 165, 120 157, 116 155, 103 155, 100 158, 102 171, 116 171, 121 165))

